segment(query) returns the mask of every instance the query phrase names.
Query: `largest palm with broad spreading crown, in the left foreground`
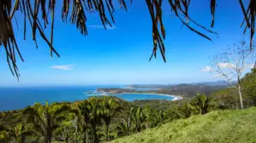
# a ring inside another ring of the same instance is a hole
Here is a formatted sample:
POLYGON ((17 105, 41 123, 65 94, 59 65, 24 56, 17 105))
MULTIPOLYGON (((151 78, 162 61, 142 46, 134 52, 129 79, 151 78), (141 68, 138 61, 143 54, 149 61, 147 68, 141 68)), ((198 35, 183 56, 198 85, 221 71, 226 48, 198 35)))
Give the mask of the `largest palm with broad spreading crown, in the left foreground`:
POLYGON ((45 106, 36 103, 34 106, 28 106, 23 112, 27 115, 27 122, 32 123, 33 132, 39 134, 45 143, 51 143, 54 131, 59 124, 65 119, 64 112, 69 111, 69 106, 53 104, 45 106))

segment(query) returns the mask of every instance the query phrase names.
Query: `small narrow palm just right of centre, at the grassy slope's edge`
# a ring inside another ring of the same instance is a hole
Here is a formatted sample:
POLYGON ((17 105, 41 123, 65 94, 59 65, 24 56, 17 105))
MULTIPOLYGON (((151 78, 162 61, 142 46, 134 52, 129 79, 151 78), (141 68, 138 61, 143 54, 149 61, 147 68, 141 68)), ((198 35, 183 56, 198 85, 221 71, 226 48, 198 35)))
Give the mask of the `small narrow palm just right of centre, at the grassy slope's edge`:
POLYGON ((138 107, 138 108, 133 108, 133 112, 132 112, 132 121, 135 124, 135 128, 137 133, 140 132, 141 130, 141 125, 142 123, 145 121, 145 115, 142 112, 142 108, 138 107))

